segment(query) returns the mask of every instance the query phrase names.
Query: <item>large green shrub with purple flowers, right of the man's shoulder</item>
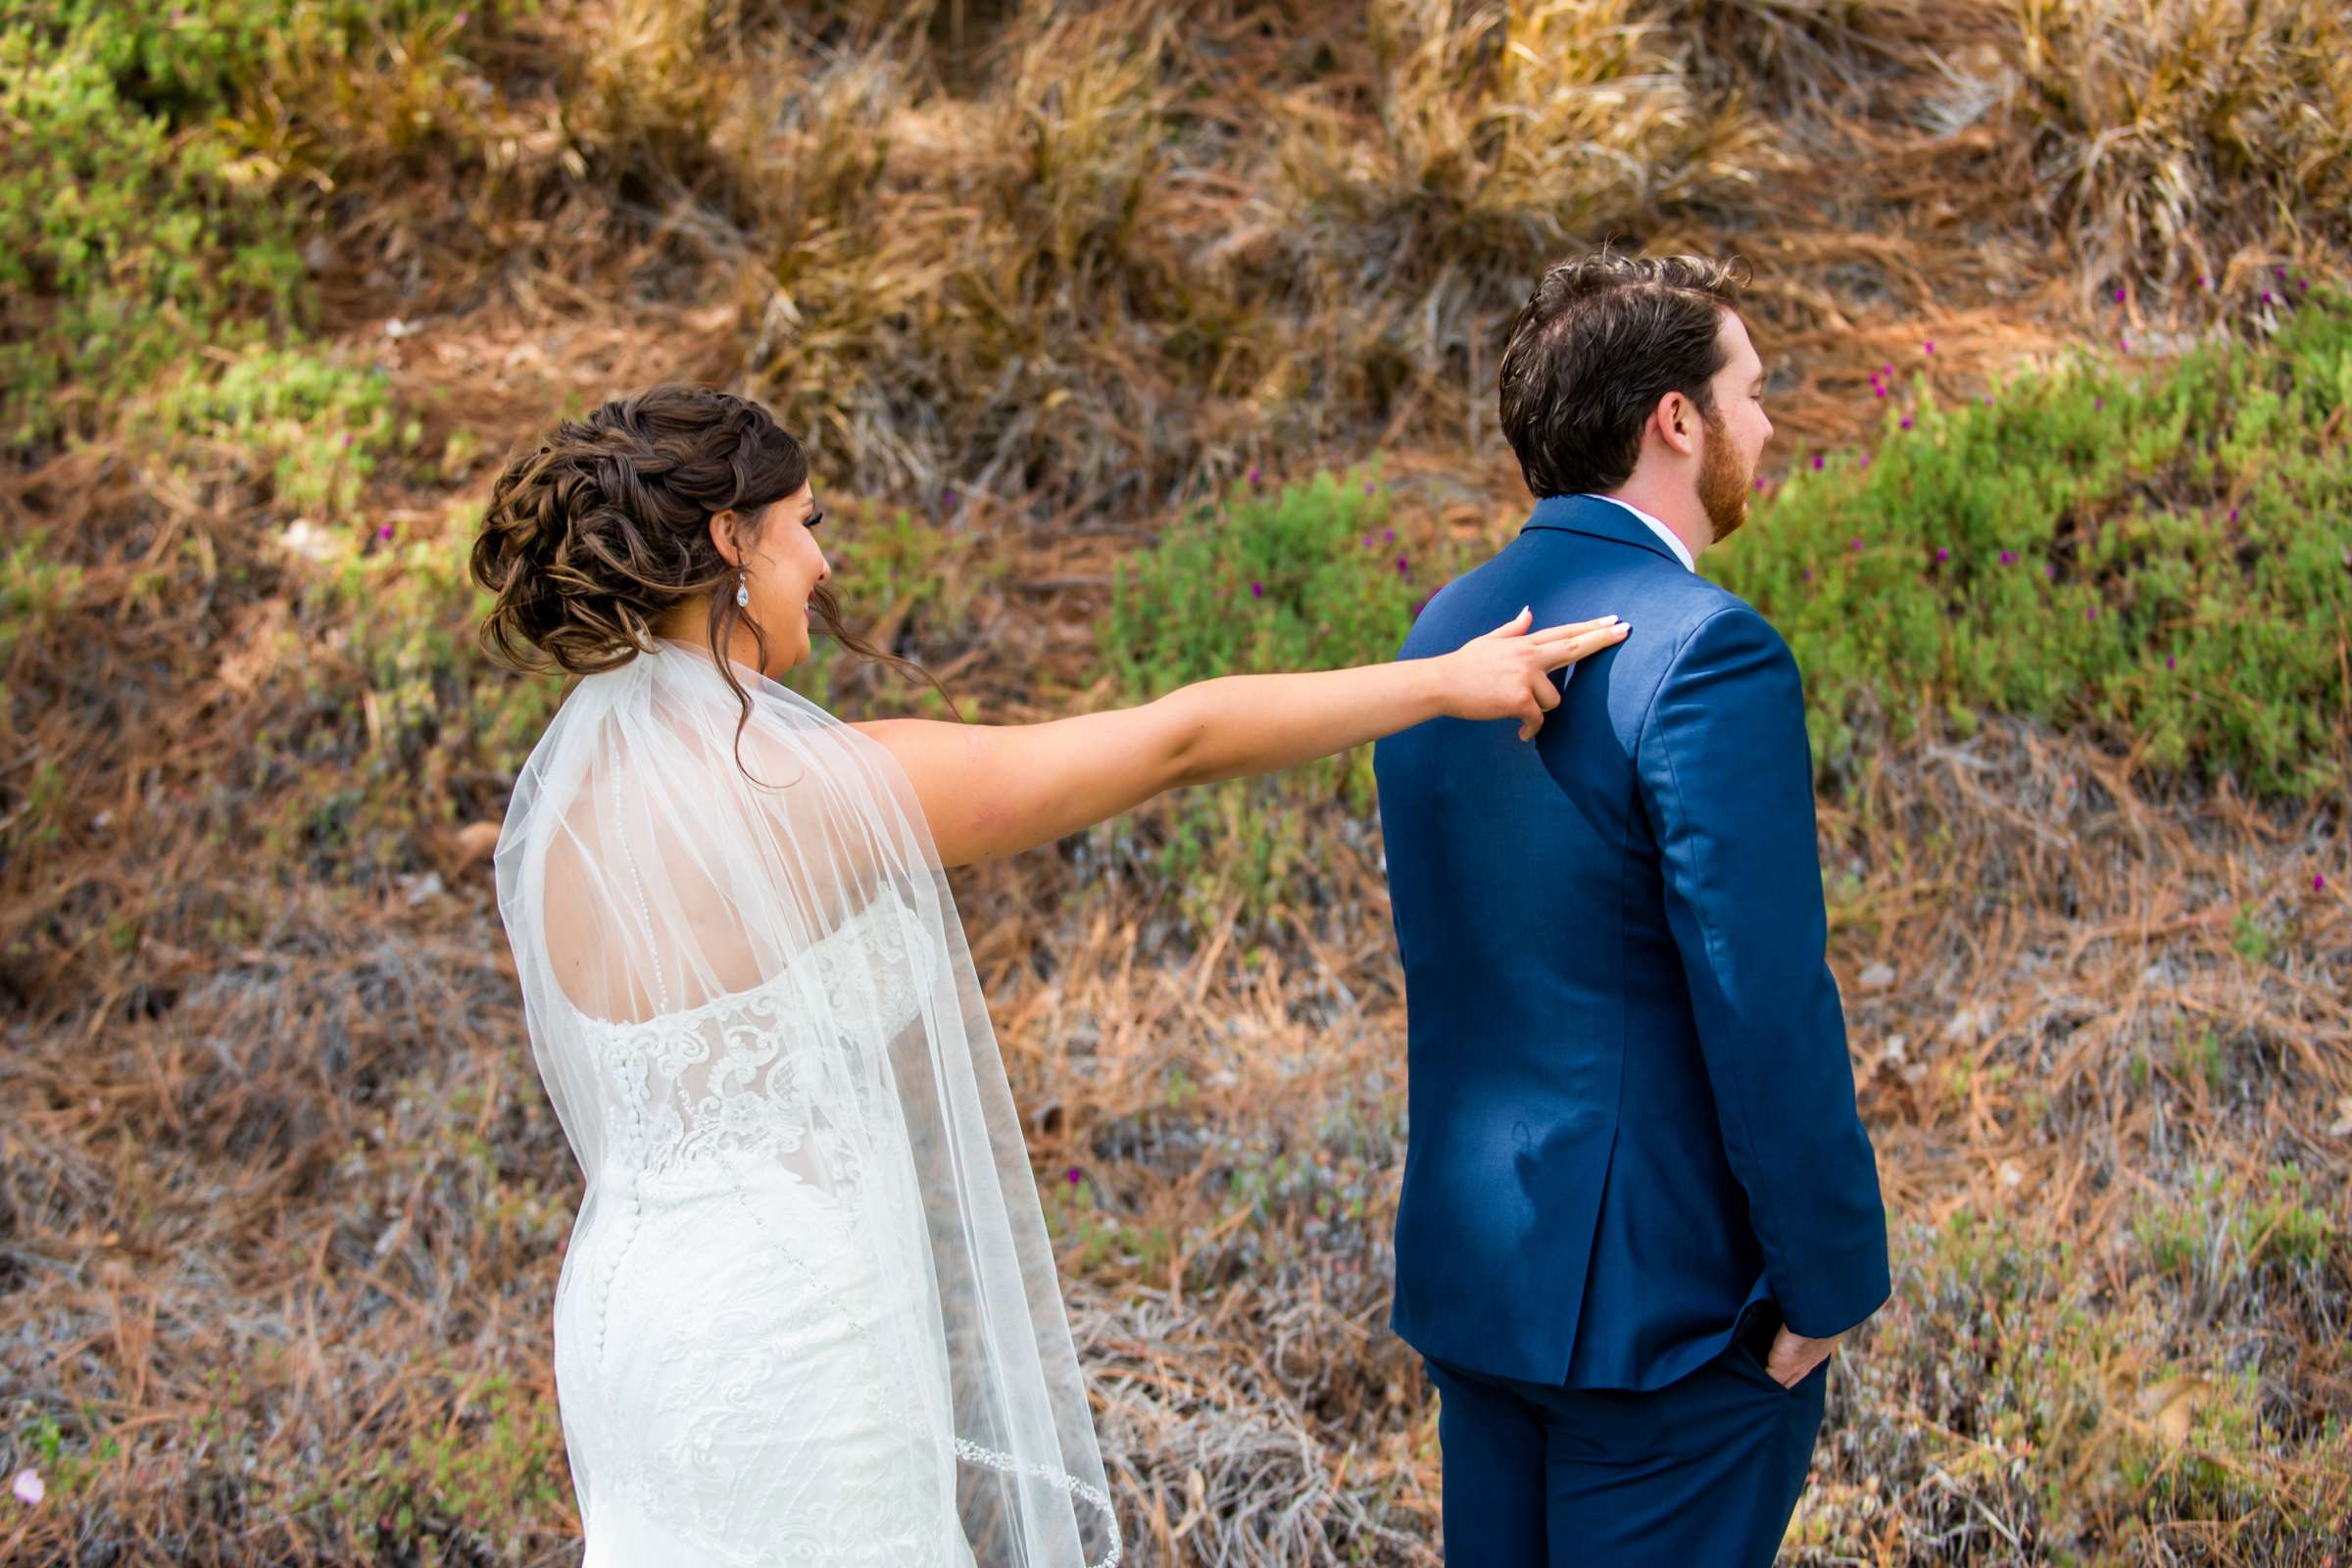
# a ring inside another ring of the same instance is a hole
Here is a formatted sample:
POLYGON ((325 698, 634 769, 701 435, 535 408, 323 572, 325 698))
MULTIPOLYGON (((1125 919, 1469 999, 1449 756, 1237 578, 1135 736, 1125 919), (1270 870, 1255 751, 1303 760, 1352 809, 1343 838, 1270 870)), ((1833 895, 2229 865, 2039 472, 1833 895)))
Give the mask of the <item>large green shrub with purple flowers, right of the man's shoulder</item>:
POLYGON ((1820 766, 1997 710, 2263 795, 2340 788, 2352 301, 2310 299, 2263 348, 1922 390, 1875 454, 1802 461, 1708 569, 1790 639, 1820 766))

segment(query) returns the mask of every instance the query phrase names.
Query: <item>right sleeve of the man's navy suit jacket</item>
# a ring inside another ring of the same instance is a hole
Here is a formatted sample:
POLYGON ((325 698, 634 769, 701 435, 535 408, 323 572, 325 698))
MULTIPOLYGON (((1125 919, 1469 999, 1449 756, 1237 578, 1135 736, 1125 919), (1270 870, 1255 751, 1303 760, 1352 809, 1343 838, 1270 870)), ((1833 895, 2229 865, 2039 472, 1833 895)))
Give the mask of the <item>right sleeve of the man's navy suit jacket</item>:
POLYGON ((1665 919, 1773 1300, 1828 1338, 1889 1293, 1879 1171, 1828 964, 1804 686, 1745 604, 1677 649, 1642 726, 1665 919))

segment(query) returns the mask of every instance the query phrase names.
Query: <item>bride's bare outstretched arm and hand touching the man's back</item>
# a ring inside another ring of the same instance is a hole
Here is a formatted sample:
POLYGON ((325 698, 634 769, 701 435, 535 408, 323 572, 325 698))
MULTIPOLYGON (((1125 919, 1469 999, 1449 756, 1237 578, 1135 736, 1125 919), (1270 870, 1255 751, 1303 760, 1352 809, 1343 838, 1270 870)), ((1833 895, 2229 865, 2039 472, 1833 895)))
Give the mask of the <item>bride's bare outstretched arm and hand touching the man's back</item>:
POLYGON ((938 858, 993 860, 1131 811, 1162 790, 1272 773, 1423 719, 1519 719, 1559 703, 1550 672, 1625 637, 1616 616, 1541 632, 1519 611, 1454 654, 1305 675, 1225 675, 1138 708, 1047 724, 873 719, 915 783, 938 858))

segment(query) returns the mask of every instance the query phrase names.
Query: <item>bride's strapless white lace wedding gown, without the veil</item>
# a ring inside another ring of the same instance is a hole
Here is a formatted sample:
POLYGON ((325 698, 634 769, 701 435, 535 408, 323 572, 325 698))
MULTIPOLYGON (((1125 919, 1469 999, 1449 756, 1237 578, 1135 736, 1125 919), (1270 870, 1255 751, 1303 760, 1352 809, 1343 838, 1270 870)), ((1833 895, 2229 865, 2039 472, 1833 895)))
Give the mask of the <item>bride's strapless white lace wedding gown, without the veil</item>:
POLYGON ((896 919, 868 910, 753 990, 586 1032, 609 1133, 555 1316, 564 1432, 595 1479, 586 1568, 971 1561, 946 1354, 873 1253, 920 1232, 910 1173, 826 1182, 795 1159, 830 1140, 821 1168, 856 1168, 833 1126, 875 1103, 795 1072, 823 1058, 795 1039, 795 992, 870 966, 906 1027, 896 919))

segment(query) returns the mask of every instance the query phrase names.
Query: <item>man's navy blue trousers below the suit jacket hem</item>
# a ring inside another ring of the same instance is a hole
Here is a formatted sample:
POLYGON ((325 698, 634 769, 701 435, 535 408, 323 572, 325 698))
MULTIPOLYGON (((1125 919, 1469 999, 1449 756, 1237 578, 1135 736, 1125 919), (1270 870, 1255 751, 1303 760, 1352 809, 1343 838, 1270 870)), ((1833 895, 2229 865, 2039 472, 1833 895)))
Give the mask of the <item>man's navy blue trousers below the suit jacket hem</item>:
POLYGON ((1423 1356, 1446 1568, 1769 1568, 1820 1434, 1828 1361, 1783 1389, 1764 1316, 1663 1389, 1571 1389, 1423 1356))

